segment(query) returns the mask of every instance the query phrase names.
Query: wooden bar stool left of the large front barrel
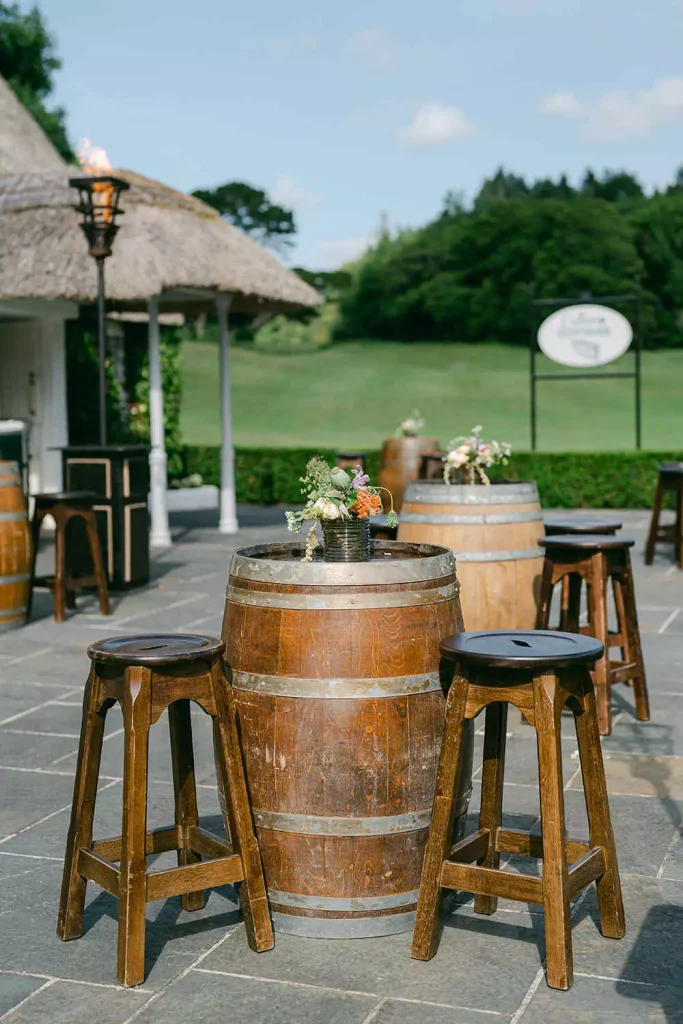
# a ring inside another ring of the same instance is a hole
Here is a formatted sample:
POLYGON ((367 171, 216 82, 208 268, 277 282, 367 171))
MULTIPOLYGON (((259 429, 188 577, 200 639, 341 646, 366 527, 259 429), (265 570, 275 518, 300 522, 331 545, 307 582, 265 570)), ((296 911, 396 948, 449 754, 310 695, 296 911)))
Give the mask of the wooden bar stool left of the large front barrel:
POLYGON ((180 896, 185 910, 204 905, 204 889, 239 887, 247 939, 261 952, 272 946, 263 870, 252 822, 232 690, 225 678, 225 645, 212 637, 115 637, 88 648, 90 674, 83 699, 81 742, 67 839, 57 935, 81 935, 85 890, 95 882, 119 900, 117 977, 122 985, 144 979, 144 906, 180 896), (200 826, 189 701, 214 720, 216 759, 227 806, 231 843, 200 826), (123 710, 123 827, 117 839, 92 840, 104 716, 123 710), (146 830, 150 727, 168 708, 175 792, 175 824, 146 830), (178 867, 147 872, 146 857, 178 851, 178 867), (208 858, 202 860, 202 857, 208 858), (120 866, 116 863, 119 861, 120 866))

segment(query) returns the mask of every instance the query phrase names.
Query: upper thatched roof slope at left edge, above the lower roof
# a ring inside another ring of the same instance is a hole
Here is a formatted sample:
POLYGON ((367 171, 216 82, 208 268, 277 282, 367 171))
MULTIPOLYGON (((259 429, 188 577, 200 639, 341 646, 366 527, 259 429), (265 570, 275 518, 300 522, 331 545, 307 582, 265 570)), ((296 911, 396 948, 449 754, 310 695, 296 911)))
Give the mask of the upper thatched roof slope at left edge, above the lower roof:
POLYGON ((66 164, 43 129, 0 77, 0 174, 59 171, 66 164))

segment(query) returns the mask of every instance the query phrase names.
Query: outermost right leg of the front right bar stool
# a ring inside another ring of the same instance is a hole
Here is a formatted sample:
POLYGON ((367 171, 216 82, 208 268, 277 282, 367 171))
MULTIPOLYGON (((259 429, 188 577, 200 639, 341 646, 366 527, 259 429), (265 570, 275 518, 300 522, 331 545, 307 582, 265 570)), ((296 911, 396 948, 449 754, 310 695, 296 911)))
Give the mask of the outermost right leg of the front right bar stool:
POLYGON ((616 847, 612 831, 607 783, 602 761, 602 746, 595 703, 595 691, 589 672, 585 673, 584 694, 581 697, 582 714, 574 715, 581 772, 584 779, 586 810, 588 812, 591 846, 601 846, 605 855, 605 873, 597 881, 600 930, 610 939, 626 935, 626 919, 622 883, 616 863, 616 847))

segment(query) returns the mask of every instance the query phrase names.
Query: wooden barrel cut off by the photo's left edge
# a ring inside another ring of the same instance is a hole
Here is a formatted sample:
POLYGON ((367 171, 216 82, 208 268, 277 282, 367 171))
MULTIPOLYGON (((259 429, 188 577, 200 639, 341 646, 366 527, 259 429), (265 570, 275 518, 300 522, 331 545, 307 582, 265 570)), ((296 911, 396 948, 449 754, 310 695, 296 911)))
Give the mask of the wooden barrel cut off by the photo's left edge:
POLYGON ((22 475, 0 462, 0 632, 26 622, 31 586, 31 535, 22 475))

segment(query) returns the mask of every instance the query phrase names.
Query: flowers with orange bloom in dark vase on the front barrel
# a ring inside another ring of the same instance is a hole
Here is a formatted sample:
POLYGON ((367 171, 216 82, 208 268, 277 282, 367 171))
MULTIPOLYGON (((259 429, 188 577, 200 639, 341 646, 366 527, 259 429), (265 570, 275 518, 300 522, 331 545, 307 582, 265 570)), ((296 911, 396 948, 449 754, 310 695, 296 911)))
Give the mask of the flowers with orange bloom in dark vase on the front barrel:
POLYGON ((389 495, 391 509, 387 513, 387 525, 395 526, 398 518, 393 510, 393 498, 386 487, 376 487, 370 477, 358 466, 350 476, 345 469, 332 468, 319 456, 313 456, 306 465, 306 475, 301 477, 301 494, 306 504, 297 512, 286 512, 287 526, 293 534, 301 531, 306 520, 312 520, 306 537, 304 562, 311 561, 318 545, 315 526, 319 522, 325 532, 326 523, 340 521, 369 521, 371 516, 382 512, 380 492, 389 495))

